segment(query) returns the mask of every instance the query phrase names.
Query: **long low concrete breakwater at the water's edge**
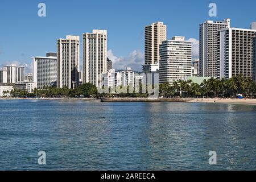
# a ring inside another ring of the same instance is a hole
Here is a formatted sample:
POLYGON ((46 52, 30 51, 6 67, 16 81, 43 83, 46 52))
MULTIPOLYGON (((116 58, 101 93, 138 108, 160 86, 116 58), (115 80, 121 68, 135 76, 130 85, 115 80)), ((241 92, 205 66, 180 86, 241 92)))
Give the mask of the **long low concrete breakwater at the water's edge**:
POLYGON ((195 98, 101 98, 101 102, 188 102, 195 98))

